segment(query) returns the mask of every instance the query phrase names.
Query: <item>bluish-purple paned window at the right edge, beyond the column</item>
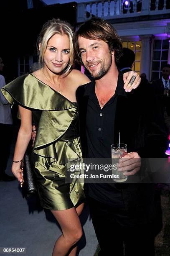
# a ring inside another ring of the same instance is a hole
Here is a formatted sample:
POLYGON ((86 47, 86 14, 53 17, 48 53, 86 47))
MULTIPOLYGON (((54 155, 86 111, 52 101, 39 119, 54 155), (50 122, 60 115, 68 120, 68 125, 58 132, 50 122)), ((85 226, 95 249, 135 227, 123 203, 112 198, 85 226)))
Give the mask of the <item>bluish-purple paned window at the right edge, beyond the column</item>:
POLYGON ((168 48, 168 39, 154 40, 152 56, 152 81, 157 80, 162 76, 162 68, 167 64, 168 48))

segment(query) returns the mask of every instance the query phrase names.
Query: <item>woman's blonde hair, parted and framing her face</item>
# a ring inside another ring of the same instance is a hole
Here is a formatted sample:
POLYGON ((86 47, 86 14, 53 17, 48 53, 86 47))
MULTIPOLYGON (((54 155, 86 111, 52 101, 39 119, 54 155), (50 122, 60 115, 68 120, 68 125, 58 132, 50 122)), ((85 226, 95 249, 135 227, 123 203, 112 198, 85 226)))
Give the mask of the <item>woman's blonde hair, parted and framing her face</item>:
POLYGON ((67 35, 70 41, 70 60, 66 68, 63 70, 63 74, 68 74, 71 66, 74 64, 74 48, 73 48, 73 28, 69 23, 64 20, 55 19, 48 20, 44 25, 38 37, 37 46, 38 46, 38 62, 40 67, 44 65, 44 53, 47 48, 49 39, 55 35, 59 34, 61 36, 67 35), (41 47, 40 47, 41 44, 41 47))

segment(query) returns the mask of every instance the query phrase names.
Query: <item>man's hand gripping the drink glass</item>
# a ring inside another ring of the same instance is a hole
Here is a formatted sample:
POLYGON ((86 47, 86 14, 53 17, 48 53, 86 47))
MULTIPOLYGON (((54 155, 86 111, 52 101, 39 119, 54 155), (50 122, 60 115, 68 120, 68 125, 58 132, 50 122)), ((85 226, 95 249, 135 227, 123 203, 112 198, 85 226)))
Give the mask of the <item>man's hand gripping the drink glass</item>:
POLYGON ((140 170, 140 166, 141 158, 137 152, 128 153, 119 159, 119 164, 117 164, 119 172, 124 172, 125 176, 136 174, 140 170))

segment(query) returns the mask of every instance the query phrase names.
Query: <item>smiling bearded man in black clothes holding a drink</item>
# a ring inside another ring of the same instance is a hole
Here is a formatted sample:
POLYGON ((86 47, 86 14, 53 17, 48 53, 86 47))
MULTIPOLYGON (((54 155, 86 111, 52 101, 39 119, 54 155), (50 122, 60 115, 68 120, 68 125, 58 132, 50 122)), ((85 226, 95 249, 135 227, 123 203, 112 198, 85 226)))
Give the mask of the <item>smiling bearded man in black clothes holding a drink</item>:
MULTIPOLYGON (((82 61, 95 79, 76 92, 83 156, 111 158, 111 145, 119 142, 120 131, 128 154, 118 168, 130 180, 141 172, 142 157, 165 155, 162 115, 148 90, 146 95, 145 86, 130 94, 131 89, 123 90, 122 73, 117 68, 122 42, 109 22, 87 20, 76 31, 74 45, 76 60, 82 61)), ((129 86, 132 83, 129 81, 129 86)), ((100 256, 122 256, 124 249, 126 256, 155 255, 154 239, 162 222, 154 184, 86 184, 86 196, 100 256)))

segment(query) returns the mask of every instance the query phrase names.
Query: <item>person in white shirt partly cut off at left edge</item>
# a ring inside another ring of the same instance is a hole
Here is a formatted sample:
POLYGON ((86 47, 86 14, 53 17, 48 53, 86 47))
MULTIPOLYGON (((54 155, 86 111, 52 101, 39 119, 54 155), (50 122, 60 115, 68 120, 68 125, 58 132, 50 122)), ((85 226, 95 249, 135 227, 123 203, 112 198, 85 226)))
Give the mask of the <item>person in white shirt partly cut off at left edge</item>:
MULTIPOLYGON (((0 72, 3 71, 3 60, 0 58, 0 72)), ((5 78, 0 74, 0 89, 5 85, 5 78)), ((10 110, 10 104, 3 96, 0 90, 0 134, 1 137, 1 154, 0 154, 0 179, 4 181, 12 181, 15 179, 13 176, 9 176, 5 173, 5 169, 8 163, 8 157, 10 154, 10 143, 12 135, 12 115, 10 110)))

